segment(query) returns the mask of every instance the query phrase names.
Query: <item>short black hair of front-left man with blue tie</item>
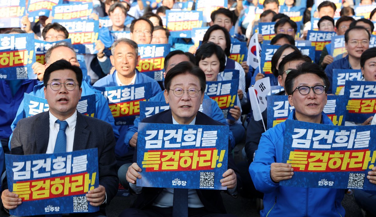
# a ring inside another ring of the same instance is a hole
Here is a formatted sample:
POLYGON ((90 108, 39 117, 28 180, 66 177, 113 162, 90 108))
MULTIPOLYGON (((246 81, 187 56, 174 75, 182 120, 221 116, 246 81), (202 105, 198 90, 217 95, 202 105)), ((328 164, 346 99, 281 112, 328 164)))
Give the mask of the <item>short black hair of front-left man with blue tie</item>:
POLYGON ((65 59, 59 59, 56 62, 53 62, 49 67, 44 70, 43 75, 43 85, 47 88, 47 83, 50 80, 51 73, 57 70, 72 70, 76 74, 76 79, 78 82, 78 87, 82 85, 82 70, 76 65, 72 65, 70 62, 65 59))

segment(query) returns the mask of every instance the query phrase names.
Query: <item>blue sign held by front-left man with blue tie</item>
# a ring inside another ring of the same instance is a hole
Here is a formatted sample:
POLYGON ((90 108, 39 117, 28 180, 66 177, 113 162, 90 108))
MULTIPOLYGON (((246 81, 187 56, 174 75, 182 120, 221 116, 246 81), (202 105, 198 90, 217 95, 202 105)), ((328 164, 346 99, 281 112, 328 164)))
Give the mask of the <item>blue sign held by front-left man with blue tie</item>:
POLYGON ((97 149, 39 155, 5 155, 9 191, 21 205, 11 215, 96 212, 85 194, 99 185, 97 149))

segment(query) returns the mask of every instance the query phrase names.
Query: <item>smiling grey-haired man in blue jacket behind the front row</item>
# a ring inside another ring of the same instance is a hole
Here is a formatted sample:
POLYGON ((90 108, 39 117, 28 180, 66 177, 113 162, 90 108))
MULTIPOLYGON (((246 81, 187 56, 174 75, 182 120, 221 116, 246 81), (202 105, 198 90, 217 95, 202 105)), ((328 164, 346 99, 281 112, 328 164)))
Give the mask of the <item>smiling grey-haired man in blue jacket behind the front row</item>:
MULTIPOLYGON (((112 65, 115 66, 116 71, 98 80, 94 83, 94 86, 123 86, 150 82, 152 86, 152 96, 161 92, 161 87, 156 80, 143 73, 139 73, 136 69, 136 65, 140 60, 136 42, 126 38, 120 38, 112 44, 111 54, 110 60, 112 65)), ((134 148, 128 146, 129 140, 124 140, 127 129, 131 126, 132 125, 118 126, 120 138, 115 146, 115 156, 119 165, 132 162, 134 148)))

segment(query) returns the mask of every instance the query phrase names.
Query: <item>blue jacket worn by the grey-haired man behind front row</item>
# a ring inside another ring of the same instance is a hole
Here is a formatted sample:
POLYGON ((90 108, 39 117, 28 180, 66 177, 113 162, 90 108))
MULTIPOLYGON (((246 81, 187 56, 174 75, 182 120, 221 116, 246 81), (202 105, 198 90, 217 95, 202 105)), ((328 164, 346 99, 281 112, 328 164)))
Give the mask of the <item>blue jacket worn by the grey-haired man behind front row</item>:
MULTIPOLYGON (((117 71, 114 71, 114 73, 109 74, 103 77, 102 79, 99 79, 97 82, 94 83, 93 86, 98 86, 98 87, 118 86, 116 82, 116 74, 117 74, 117 71)), ((148 83, 148 82, 150 82, 152 85, 152 96, 155 96, 157 93, 161 92, 161 87, 159 86, 158 82, 156 82, 156 80, 152 79, 146 74, 139 73, 139 71, 136 69, 135 84, 148 83)), ((106 104, 108 105, 107 102, 106 104)), ((117 158, 126 158, 126 159, 131 159, 131 160, 133 158, 133 152, 135 149, 133 147, 129 147, 129 140, 125 139, 125 135, 127 133, 128 128, 132 126, 133 125, 117 126, 119 133, 120 133, 120 137, 118 141, 116 142, 116 146, 115 146, 115 156, 117 158)))

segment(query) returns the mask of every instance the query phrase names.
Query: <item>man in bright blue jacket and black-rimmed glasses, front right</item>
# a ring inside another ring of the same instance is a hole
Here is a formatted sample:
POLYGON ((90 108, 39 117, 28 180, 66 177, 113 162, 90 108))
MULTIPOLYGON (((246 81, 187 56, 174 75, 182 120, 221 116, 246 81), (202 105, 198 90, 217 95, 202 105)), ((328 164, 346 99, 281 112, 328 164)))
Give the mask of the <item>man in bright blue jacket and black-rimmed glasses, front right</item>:
MULTIPOLYGON (((330 124, 324 114, 329 79, 317 64, 305 62, 291 70, 285 80, 288 102, 295 109, 288 119, 317 124, 330 124)), ((262 134, 255 159, 249 167, 252 181, 264 193, 261 216, 345 216, 341 205, 345 191, 334 188, 302 188, 280 186, 291 179, 294 169, 282 162, 285 122, 262 134), (299 202, 297 202, 299 198, 299 202)), ((376 167, 367 176, 376 183, 376 167)))

